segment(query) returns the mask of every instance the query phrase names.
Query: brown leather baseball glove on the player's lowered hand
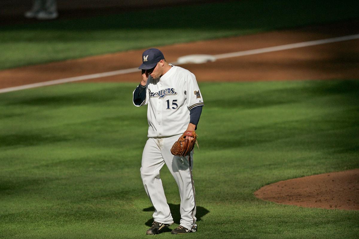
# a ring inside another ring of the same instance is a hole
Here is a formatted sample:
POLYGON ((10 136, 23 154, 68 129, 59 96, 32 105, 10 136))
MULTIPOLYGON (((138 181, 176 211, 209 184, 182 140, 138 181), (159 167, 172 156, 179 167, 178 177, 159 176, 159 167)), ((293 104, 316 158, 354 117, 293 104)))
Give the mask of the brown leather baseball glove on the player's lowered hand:
MULTIPOLYGON (((174 142, 171 148, 171 153, 176 156, 184 157, 191 153, 197 143, 197 134, 194 131, 187 130, 181 137, 174 142), (186 139, 186 136, 193 137, 192 140, 186 139)), ((198 144, 197 144, 198 145, 198 144)))

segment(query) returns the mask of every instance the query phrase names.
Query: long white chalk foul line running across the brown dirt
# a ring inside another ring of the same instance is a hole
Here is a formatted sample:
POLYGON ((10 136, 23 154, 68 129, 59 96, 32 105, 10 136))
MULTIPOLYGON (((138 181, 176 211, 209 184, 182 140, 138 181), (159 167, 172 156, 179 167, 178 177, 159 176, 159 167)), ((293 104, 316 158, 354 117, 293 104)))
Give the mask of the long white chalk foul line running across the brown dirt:
MULTIPOLYGON (((276 46, 276 47, 265 47, 265 48, 253 49, 253 50, 248 50, 248 51, 218 54, 218 55, 214 55, 214 57, 216 59, 224 59, 224 58, 230 58, 230 57, 248 56, 248 55, 260 54, 260 53, 266 53, 266 52, 275 52, 275 51, 283 51, 283 50, 300 48, 300 47, 315 46, 315 45, 320 45, 320 44, 325 44, 325 43, 341 42, 341 41, 345 41, 345 40, 353 40, 353 39, 358 39, 358 38, 359 38, 359 34, 346 35, 346 36, 342 36, 342 37, 334 37, 334 38, 327 38, 327 39, 321 39, 321 40, 312 40, 312 41, 308 41, 308 42, 286 44, 286 45, 281 45, 281 46, 276 46)), ((178 63, 172 62, 172 64, 176 65, 178 63)), ((109 71, 109 72, 102 72, 102 73, 96 73, 96 74, 91 74, 91 75, 62 78, 59 80, 52 80, 52 81, 38 82, 38 83, 22 85, 22 86, 8 87, 8 88, 0 89, 0 93, 31 89, 31 88, 35 88, 35 87, 41 87, 41 86, 56 85, 56 84, 61 84, 61 83, 74 82, 74 81, 84 81, 84 80, 90 80, 90 79, 101 78, 101 77, 106 77, 106 76, 122 75, 122 74, 127 74, 127 73, 138 72, 138 71, 139 70, 136 67, 136 68, 129 68, 129 69, 118 70, 118 71, 109 71)))

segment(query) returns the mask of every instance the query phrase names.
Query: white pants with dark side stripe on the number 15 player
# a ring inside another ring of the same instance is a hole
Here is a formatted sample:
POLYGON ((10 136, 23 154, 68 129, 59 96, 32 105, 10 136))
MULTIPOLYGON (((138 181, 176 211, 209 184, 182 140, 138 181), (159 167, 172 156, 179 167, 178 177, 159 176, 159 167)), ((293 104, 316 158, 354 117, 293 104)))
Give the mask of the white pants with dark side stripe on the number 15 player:
POLYGON ((196 199, 192 178, 193 150, 191 162, 187 157, 174 156, 171 147, 182 134, 172 137, 149 138, 143 150, 141 162, 141 178, 145 191, 155 208, 154 221, 173 224, 171 211, 160 179, 160 169, 164 164, 177 182, 181 197, 180 225, 196 231, 196 199))

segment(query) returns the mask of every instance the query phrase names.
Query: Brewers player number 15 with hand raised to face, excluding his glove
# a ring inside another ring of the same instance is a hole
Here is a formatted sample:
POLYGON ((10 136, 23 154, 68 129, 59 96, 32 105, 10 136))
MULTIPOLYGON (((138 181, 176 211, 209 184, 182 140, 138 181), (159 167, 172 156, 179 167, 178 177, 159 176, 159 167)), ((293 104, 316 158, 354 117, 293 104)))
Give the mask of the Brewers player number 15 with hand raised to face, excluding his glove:
MULTIPOLYGON (((193 151, 189 158, 174 156, 170 150, 183 132, 196 129, 204 105, 203 98, 195 75, 168 64, 159 49, 144 51, 142 61, 139 67, 142 80, 133 92, 133 103, 135 106, 148 105, 148 140, 140 172, 155 211, 154 222, 146 234, 158 234, 173 224, 160 179, 160 169, 164 164, 176 180, 181 197, 180 225, 171 233, 192 233, 197 230, 193 151)), ((190 136, 186 138, 192 139, 190 136)))

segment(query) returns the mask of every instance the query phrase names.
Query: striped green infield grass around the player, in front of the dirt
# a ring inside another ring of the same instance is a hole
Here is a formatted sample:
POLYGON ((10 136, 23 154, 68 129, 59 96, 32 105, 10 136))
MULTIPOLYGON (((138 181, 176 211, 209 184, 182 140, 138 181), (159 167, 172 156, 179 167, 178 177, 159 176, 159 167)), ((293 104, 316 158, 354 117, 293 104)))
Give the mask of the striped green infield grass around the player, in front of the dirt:
MULTIPOLYGON (((134 83, 0 94, 0 238, 149 238, 134 83)), ((359 81, 200 83, 199 231, 186 238, 357 238, 359 212, 255 198, 279 180, 359 167, 359 81)), ((175 228, 178 188, 161 177, 175 228)), ((170 233, 155 238, 176 237, 170 233)), ((180 236, 177 236, 180 237, 180 236)))

